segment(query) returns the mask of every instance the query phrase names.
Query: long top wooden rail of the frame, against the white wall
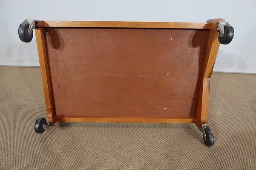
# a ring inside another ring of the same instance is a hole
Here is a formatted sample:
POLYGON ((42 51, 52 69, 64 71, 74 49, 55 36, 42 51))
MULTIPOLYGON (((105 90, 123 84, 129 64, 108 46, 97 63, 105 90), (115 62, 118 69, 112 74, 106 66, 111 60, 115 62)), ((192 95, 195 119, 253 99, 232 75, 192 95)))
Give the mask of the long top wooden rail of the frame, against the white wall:
POLYGON ((126 21, 35 21, 39 27, 96 27, 96 28, 183 28, 213 29, 211 23, 167 23, 126 21))

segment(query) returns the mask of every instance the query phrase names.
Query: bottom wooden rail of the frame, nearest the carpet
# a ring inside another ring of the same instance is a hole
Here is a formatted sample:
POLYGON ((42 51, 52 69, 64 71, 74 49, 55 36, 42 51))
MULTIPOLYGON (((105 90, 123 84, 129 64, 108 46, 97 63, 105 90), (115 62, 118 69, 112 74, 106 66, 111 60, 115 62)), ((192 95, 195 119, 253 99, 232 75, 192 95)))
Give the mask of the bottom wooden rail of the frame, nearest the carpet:
POLYGON ((170 118, 170 119, 149 119, 149 118, 86 118, 86 117, 62 117, 52 118, 55 122, 134 122, 134 123, 195 123, 194 118, 170 118))

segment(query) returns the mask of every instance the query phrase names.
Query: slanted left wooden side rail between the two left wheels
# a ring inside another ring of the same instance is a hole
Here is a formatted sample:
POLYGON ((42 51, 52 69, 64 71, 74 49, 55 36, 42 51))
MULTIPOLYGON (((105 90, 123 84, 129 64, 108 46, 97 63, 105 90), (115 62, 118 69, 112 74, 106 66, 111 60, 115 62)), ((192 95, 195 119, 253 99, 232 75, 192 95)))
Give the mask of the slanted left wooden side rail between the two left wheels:
POLYGON ((52 98, 52 87, 50 80, 50 73, 48 67, 48 59, 46 54, 46 43, 44 40, 43 28, 35 29, 36 40, 37 40, 37 51, 40 63, 40 71, 43 83, 44 99, 46 104, 46 113, 48 118, 55 116, 54 103, 52 98))

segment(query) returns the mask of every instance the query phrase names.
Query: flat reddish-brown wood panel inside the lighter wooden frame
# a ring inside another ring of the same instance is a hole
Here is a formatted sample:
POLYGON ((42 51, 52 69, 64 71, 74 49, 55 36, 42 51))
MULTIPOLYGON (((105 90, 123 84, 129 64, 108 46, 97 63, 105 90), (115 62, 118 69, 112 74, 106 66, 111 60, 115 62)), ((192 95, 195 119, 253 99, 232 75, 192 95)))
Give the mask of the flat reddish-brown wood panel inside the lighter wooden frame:
POLYGON ((56 115, 194 117, 207 33, 44 28, 56 115))

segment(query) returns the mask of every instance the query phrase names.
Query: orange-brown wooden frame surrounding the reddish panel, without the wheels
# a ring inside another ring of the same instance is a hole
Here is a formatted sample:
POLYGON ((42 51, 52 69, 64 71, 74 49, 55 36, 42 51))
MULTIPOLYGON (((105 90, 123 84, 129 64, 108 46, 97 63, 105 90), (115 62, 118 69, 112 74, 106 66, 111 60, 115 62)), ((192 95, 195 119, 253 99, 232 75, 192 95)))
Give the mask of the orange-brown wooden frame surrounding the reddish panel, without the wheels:
POLYGON ((111 21, 35 21, 35 34, 46 103, 47 122, 155 122, 155 123, 196 123, 198 128, 207 123, 210 93, 210 78, 219 51, 217 25, 224 19, 211 19, 207 23, 164 23, 164 22, 111 22, 111 21), (56 116, 52 97, 51 80, 46 57, 46 46, 43 36, 44 27, 97 27, 97 28, 177 28, 177 29, 207 29, 208 40, 206 56, 199 88, 196 118, 178 117, 172 119, 147 118, 87 118, 56 116))

